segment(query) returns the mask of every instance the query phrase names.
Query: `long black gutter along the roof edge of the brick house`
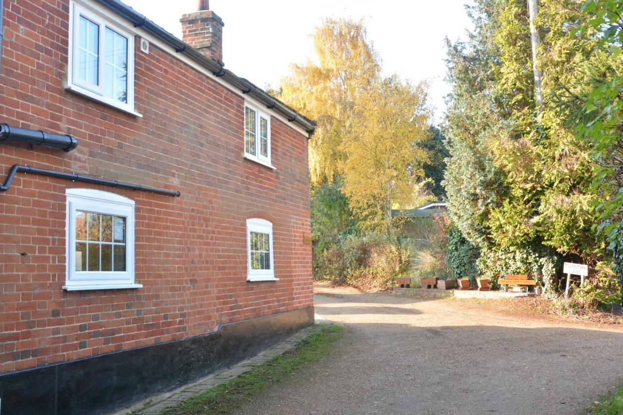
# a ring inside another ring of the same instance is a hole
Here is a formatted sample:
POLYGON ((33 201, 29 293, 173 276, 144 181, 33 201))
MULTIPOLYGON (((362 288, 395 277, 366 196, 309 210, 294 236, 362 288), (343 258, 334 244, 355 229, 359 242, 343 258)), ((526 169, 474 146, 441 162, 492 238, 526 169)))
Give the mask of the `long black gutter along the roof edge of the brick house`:
POLYGON ((171 45, 176 52, 188 55, 197 63, 209 69, 212 74, 227 80, 227 82, 239 88, 243 93, 248 93, 251 97, 265 103, 267 108, 273 108, 275 111, 285 116, 285 118, 287 118, 290 122, 295 122, 302 126, 303 129, 305 129, 305 131, 307 131, 310 135, 313 134, 313 131, 316 128, 315 121, 310 120, 301 113, 298 113, 288 107, 283 102, 271 97, 268 93, 264 92, 264 90, 256 87, 248 80, 240 78, 230 70, 225 69, 223 65, 210 59, 206 55, 199 52, 199 50, 194 49, 191 45, 184 43, 177 37, 165 31, 162 27, 143 16, 143 14, 136 12, 132 7, 126 6, 119 0, 96 1, 131 21, 135 27, 141 27, 143 30, 150 32, 153 36, 158 37, 161 41, 171 45))

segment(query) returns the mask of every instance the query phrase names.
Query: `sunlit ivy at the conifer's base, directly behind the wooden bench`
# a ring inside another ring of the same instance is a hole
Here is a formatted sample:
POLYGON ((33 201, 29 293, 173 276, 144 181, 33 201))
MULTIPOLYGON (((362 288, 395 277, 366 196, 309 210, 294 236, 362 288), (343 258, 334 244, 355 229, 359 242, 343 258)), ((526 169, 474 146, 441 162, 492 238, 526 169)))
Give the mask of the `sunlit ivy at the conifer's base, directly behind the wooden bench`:
POLYGON ((545 285, 547 297, 558 297, 554 278, 559 265, 558 255, 536 252, 531 248, 514 250, 482 249, 477 260, 482 278, 497 285, 498 279, 508 274, 533 275, 537 284, 545 285))

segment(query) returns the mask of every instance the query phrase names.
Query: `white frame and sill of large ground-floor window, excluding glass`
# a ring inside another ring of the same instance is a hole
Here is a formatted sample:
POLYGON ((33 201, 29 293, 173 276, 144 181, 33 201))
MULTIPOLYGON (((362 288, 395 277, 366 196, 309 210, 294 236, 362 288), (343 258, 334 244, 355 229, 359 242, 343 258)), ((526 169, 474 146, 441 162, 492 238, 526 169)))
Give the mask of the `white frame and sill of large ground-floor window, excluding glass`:
POLYGON ((67 189, 65 216, 65 285, 64 290, 137 289, 135 282, 135 202, 115 193, 95 189, 67 189), (125 221, 126 270, 80 272, 75 270, 75 212, 77 210, 123 216, 125 221))

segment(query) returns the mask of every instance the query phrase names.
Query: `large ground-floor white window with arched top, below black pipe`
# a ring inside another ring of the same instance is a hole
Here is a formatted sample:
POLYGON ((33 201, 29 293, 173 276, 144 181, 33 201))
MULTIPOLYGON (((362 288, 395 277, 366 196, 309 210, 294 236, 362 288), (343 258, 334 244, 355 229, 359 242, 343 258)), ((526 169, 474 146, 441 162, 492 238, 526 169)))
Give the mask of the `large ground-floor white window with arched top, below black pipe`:
POLYGON ((67 280, 63 289, 140 288, 134 281, 133 200, 93 189, 67 189, 67 280))

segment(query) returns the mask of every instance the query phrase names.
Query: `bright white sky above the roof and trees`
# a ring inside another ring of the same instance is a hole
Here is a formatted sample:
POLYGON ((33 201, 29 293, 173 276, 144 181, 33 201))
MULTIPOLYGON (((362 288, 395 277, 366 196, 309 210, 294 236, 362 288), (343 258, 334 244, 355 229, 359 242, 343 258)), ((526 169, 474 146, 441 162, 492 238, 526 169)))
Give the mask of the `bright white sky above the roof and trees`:
MULTIPOLYGON (((182 14, 195 11, 196 0, 123 0, 181 38, 182 14)), ((313 56, 310 34, 325 17, 364 18, 368 37, 383 60, 385 75, 430 83, 434 121, 443 116, 444 38, 464 38, 472 24, 464 4, 470 0, 210 0, 225 23, 223 61, 236 75, 259 87, 278 87, 290 64, 313 56)))

